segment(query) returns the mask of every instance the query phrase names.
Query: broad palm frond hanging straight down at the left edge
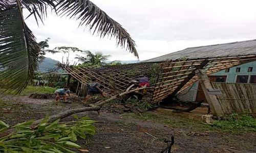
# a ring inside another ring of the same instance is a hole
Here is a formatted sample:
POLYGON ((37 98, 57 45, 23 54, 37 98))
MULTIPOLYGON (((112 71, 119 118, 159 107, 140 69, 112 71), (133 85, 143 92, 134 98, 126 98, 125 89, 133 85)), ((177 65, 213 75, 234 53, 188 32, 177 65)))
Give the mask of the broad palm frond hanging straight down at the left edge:
POLYGON ((17 4, 0 10, 0 78, 7 89, 20 92, 36 70, 39 47, 17 4))

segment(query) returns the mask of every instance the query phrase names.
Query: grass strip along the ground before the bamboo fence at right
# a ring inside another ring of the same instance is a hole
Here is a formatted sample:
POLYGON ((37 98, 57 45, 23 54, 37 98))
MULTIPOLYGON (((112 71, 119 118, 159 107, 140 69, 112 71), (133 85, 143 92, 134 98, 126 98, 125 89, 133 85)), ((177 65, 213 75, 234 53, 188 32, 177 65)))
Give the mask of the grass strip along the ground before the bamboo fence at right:
POLYGON ((144 112, 141 115, 126 113, 123 116, 126 118, 137 118, 143 121, 159 122, 174 128, 190 128, 195 131, 215 131, 224 133, 256 132, 256 119, 249 114, 227 115, 222 120, 214 120, 212 124, 206 124, 201 120, 193 120, 177 116, 167 117, 152 112, 144 112))

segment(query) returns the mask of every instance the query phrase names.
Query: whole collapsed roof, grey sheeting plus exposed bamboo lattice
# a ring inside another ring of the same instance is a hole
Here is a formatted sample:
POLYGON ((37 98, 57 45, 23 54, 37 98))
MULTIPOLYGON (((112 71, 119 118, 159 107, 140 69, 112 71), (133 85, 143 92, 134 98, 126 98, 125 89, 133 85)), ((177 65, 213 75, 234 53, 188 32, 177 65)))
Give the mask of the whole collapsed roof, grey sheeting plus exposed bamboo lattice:
POLYGON ((91 78, 95 78, 109 95, 115 95, 123 92, 125 85, 139 74, 150 74, 154 69, 153 65, 157 64, 157 79, 153 84, 152 95, 152 103, 156 104, 166 98, 171 99, 170 97, 198 81, 198 69, 206 70, 209 75, 252 61, 256 61, 256 40, 191 47, 137 64, 102 67, 66 65, 63 69, 84 85, 88 84, 91 78), (181 59, 182 56, 188 58, 181 59))

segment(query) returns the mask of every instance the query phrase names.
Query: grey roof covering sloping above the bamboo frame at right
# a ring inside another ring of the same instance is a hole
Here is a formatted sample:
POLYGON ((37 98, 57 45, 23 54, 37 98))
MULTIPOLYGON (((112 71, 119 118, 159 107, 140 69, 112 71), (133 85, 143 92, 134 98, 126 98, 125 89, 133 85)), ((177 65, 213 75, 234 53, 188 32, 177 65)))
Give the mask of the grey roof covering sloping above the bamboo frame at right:
POLYGON ((150 60, 145 60, 142 61, 142 63, 177 60, 181 57, 187 57, 188 59, 207 59, 243 55, 256 55, 256 39, 208 46, 190 47, 178 52, 166 54, 150 60))

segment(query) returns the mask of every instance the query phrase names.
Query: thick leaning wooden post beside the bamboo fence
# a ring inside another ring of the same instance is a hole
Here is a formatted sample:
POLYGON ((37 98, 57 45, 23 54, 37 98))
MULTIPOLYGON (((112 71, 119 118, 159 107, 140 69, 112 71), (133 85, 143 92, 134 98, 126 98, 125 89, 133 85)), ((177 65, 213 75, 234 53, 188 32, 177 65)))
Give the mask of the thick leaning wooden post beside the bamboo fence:
POLYGON ((212 114, 217 115, 217 116, 224 116, 224 112, 221 108, 219 100, 217 99, 217 96, 214 94, 209 94, 209 91, 213 90, 214 88, 210 84, 210 80, 207 77, 206 71, 204 69, 198 69, 198 70, 196 70, 196 73, 200 80, 201 87, 203 89, 205 98, 209 103, 212 114))

